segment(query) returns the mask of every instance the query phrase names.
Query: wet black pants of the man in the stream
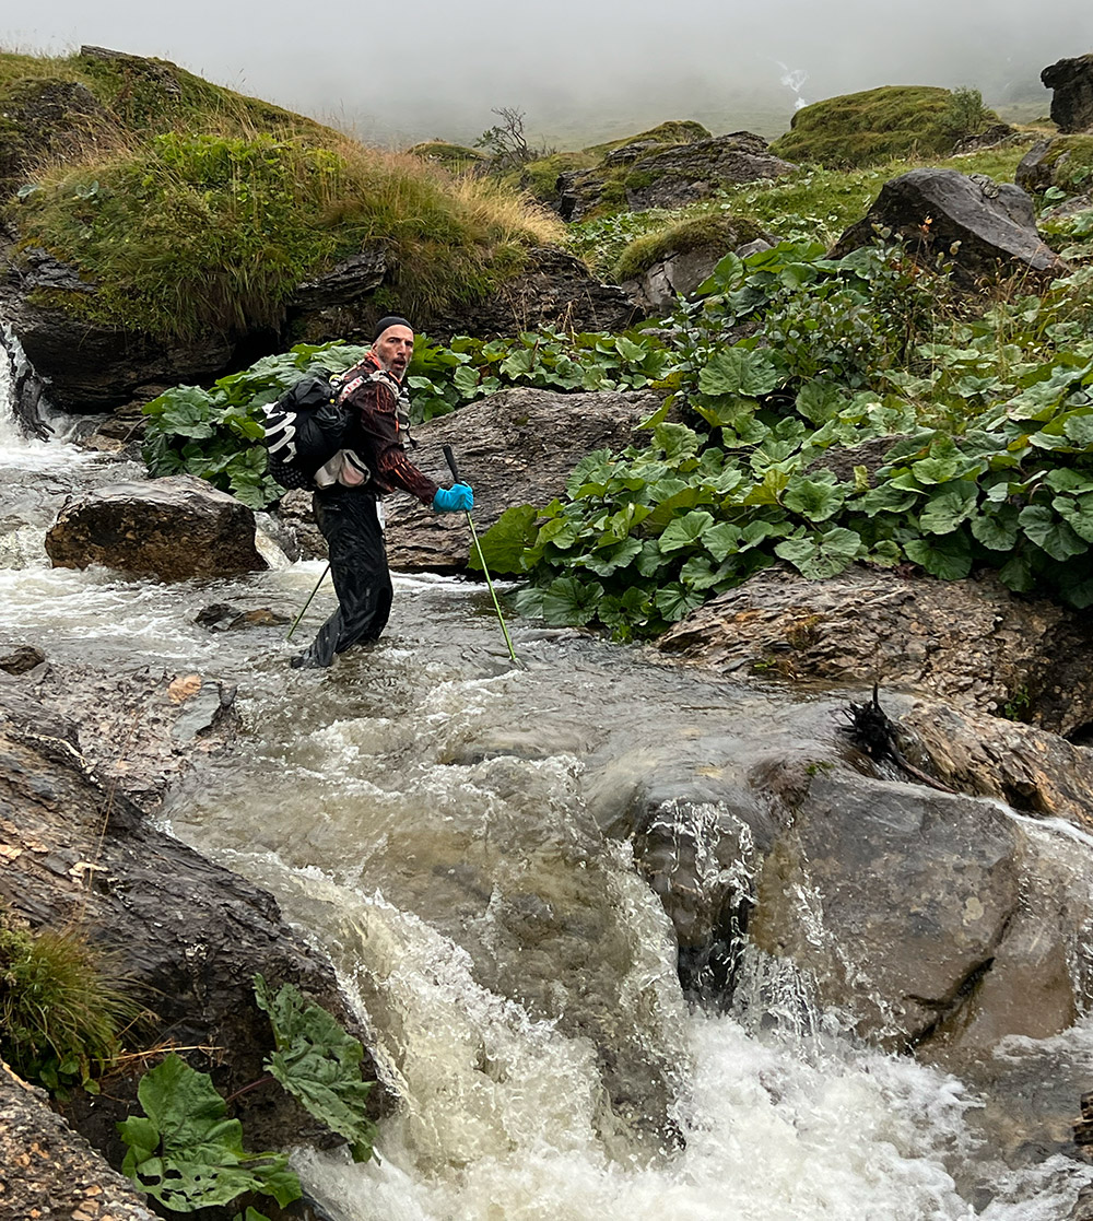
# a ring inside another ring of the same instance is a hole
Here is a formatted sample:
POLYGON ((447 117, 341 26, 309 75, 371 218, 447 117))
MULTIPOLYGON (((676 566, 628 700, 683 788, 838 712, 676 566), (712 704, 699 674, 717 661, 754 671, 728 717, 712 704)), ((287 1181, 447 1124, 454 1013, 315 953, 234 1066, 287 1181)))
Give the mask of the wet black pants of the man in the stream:
POLYGON ((338 608, 293 663, 304 667, 330 665, 352 645, 377 640, 387 626, 394 595, 375 496, 336 485, 316 492, 313 505, 330 548, 338 608))

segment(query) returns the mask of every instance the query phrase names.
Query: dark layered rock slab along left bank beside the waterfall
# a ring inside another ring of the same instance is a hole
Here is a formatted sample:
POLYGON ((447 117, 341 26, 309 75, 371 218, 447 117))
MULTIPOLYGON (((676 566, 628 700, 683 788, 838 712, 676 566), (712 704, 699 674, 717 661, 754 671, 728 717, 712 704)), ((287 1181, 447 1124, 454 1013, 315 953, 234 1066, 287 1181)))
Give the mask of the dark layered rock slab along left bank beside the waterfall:
MULTIPOLYGON (((222 700, 220 685, 198 675, 95 678, 55 667, 0 675, 0 901, 32 928, 82 930, 148 1009, 129 1049, 210 1049, 183 1055, 227 1095, 260 1079, 272 1050, 253 996, 256 972, 275 988, 292 983, 350 1029, 355 1020, 330 965, 270 895, 155 829, 128 796, 154 803, 171 761, 192 756, 187 717, 204 690, 222 700)), ((206 747, 225 741, 217 724, 206 747)), ((115 1121, 134 1090, 123 1073, 66 1110, 115 1166, 123 1151, 115 1121)), ((254 1148, 329 1139, 281 1089, 253 1090, 237 1106, 254 1148)))

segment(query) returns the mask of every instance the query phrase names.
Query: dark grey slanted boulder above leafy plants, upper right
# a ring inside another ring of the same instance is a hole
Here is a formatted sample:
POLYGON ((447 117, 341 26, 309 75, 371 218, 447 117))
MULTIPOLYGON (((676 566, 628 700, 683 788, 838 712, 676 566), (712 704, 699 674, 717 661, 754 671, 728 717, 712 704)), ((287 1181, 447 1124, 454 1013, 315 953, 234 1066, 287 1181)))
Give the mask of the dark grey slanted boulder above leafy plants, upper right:
POLYGON ((835 243, 832 256, 870 245, 878 228, 889 230, 929 266, 939 258, 951 260, 954 276, 967 284, 1066 271, 1036 227, 1032 199, 1020 187, 986 175, 921 168, 889 179, 866 216, 835 243))

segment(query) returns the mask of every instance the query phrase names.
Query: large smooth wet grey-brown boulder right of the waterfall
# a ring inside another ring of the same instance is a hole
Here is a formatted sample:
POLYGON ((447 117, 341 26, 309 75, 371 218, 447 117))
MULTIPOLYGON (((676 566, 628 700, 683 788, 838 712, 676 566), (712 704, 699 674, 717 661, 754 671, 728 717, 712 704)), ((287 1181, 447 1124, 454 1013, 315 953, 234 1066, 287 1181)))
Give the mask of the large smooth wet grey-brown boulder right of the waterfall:
POLYGON ((988 972, 1020 888, 1019 835, 998 808, 819 773, 763 860, 749 932, 857 1033, 915 1045, 988 972))

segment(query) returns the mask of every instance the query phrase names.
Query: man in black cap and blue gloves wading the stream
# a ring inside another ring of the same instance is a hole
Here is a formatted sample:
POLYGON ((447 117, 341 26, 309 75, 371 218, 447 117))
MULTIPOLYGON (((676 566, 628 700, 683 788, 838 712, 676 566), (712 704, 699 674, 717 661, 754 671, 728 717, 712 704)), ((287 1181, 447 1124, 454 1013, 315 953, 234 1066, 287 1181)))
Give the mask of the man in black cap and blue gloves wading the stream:
MULTIPOLYGON (((330 548, 338 608, 294 667, 330 665, 352 645, 377 640, 391 614, 393 590, 383 546, 380 501, 401 490, 437 513, 474 508, 467 484, 437 486, 407 458, 410 402, 403 388, 414 331, 404 317, 376 324, 368 355, 338 379, 347 410, 344 448, 315 475, 315 520, 330 548)), ((413 444, 413 442, 410 442, 413 444)))

